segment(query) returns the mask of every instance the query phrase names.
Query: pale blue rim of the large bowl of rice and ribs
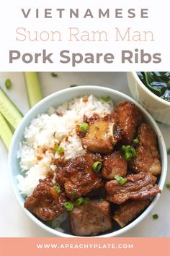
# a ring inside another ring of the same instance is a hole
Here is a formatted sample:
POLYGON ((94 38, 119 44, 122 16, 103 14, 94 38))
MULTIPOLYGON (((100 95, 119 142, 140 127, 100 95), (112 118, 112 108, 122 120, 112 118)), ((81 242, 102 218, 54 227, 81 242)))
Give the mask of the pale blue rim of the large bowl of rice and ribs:
MULTIPOLYGON (((143 116, 146 116, 149 121, 151 121, 151 124, 154 127, 154 130, 157 132, 158 136, 159 136, 159 140, 160 140, 160 144, 161 147, 163 148, 163 156, 164 156, 164 170, 161 173, 161 177, 159 180, 159 188, 162 190, 164 188, 164 184, 165 184, 165 180, 166 180, 166 174, 167 174, 167 154, 166 154, 166 145, 164 142, 164 137, 161 133, 161 130, 158 127, 158 124, 156 124, 156 121, 153 119, 153 117, 151 116, 151 114, 148 113, 148 111, 146 111, 145 108, 143 108, 143 106, 140 106, 140 104, 138 102, 136 102, 135 100, 133 100, 133 98, 131 98, 130 96, 126 95, 125 93, 121 93, 118 90, 114 90, 112 88, 106 88, 106 87, 102 87, 99 85, 81 85, 79 87, 74 87, 74 88, 66 88, 63 90, 59 90, 55 93, 52 93, 50 95, 48 95, 47 97, 43 98, 40 102, 38 102, 35 106, 33 106, 29 111, 27 111, 27 114, 24 115, 22 121, 19 123, 19 126, 17 127, 16 131, 14 132, 14 135, 12 137, 12 142, 11 142, 11 146, 9 148, 9 157, 8 157, 8 174, 9 174, 9 180, 10 183, 12 184, 12 190, 14 192, 14 195, 17 197, 17 200, 19 202, 19 205, 21 206, 22 210, 24 210, 24 213, 27 214, 27 216, 30 217, 30 219, 36 223, 38 226, 40 226, 43 230, 48 231, 50 234, 53 234, 55 236, 59 236, 59 237, 79 237, 79 236, 74 236, 72 234, 66 234, 63 233, 61 231, 57 231, 55 229, 52 229, 48 226, 45 225, 45 223, 42 223, 42 221, 40 221, 38 218, 36 218, 35 216, 32 215, 32 213, 30 213, 29 210, 27 210, 26 208, 23 207, 23 201, 19 195, 19 192, 17 190, 17 186, 14 183, 14 179, 13 179, 13 172, 12 172, 12 154, 13 154, 13 148, 15 145, 15 140, 17 140, 17 137, 19 135, 20 129, 22 129, 22 126, 24 125, 24 121, 27 120, 27 118, 29 116, 32 116, 32 113, 34 113, 34 111, 38 108, 40 108, 42 106, 43 103, 46 103, 49 101, 49 106, 50 106, 50 99, 51 98, 55 98, 55 97, 59 97, 60 95, 64 94, 64 93, 71 93, 73 90, 79 90, 79 95, 81 95, 81 92, 88 88, 89 90, 101 90, 103 91, 103 93, 110 93, 113 95, 114 98, 114 94, 115 95, 120 95, 123 98, 126 98, 127 101, 130 101, 132 103, 135 103, 136 106, 138 106, 138 108, 140 108, 140 110, 143 112, 143 116)), ((94 94, 95 93, 90 93, 90 94, 94 94)), ((75 97, 74 97, 75 98, 75 97)), ((56 104, 57 105, 57 104, 56 104)), ((32 119, 35 118, 35 116, 32 117, 32 119)), ((99 236, 81 236, 81 237, 113 237, 113 236, 120 236, 122 234, 124 234, 126 231, 130 231, 130 229, 133 229, 133 227, 135 227, 138 223, 140 223, 140 221, 143 220, 143 218, 145 218, 146 216, 148 216, 148 213, 151 212, 151 210, 153 209, 153 207, 156 205, 156 203, 158 202, 158 199, 160 198, 160 194, 156 195, 156 197, 154 197, 153 201, 151 202, 151 204, 148 206, 148 208, 146 208, 146 210, 143 211, 143 213, 140 214, 140 216, 138 216, 138 218, 136 218, 134 221, 132 221, 130 224, 128 224, 127 226, 125 226, 122 229, 118 229, 117 231, 113 231, 110 232, 108 234, 103 234, 103 235, 99 235, 99 236)))

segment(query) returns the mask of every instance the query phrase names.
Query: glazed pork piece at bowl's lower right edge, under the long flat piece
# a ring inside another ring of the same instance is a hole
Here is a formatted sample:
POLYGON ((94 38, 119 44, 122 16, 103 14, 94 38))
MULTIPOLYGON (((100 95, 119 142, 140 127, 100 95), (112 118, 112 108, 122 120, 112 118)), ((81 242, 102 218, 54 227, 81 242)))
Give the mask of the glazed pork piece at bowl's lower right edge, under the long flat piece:
POLYGON ((113 219, 123 228, 130 223, 133 218, 138 216, 139 213, 142 213, 149 204, 149 199, 143 201, 129 200, 124 202, 122 205, 119 205, 119 208, 115 211, 113 219))

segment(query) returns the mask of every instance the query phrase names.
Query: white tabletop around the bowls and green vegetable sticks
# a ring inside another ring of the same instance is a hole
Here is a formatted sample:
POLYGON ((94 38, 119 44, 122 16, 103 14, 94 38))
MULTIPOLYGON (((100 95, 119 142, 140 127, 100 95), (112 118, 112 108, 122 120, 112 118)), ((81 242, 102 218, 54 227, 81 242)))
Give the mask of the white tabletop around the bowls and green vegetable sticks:
MULTIPOLYGON (((6 78, 12 80, 12 88, 7 91, 8 95, 25 114, 29 107, 22 72, 0 72, 2 88, 5 88, 4 81, 6 78)), ((60 72, 58 77, 52 77, 49 72, 40 72, 39 78, 44 97, 57 90, 68 88, 70 85, 104 85, 130 95, 125 72, 60 72)), ((164 135, 166 147, 170 148, 170 126, 164 124, 158 124, 158 126, 164 135)), ((7 161, 8 152, 0 140, 0 236, 53 236, 33 223, 20 207, 9 183, 7 161)), ((168 172, 166 184, 170 184, 170 172, 168 172)), ((151 213, 138 226, 123 236, 170 236, 169 213, 170 190, 164 187, 160 200, 151 213), (159 216, 157 220, 152 218, 155 213, 159 216)))

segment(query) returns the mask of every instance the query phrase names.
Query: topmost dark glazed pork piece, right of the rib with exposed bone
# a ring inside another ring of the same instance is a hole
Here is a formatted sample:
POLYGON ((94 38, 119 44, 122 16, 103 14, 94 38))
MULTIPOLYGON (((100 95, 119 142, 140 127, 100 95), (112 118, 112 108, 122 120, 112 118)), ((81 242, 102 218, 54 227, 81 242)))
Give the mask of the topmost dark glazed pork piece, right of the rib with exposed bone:
POLYGON ((122 144, 130 145, 142 122, 142 113, 135 104, 128 101, 117 103, 115 113, 117 114, 118 126, 122 129, 122 144))

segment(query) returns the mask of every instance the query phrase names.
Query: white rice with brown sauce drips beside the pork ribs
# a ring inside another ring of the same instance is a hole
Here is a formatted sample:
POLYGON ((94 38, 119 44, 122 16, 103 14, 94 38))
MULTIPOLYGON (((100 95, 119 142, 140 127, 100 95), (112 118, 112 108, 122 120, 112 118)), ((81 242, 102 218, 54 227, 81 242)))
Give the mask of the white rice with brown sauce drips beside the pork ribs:
POLYGON ((38 115, 24 130, 24 141, 17 154, 22 171, 17 176, 18 187, 23 195, 30 196, 39 179, 45 179, 48 171, 55 171, 53 160, 60 157, 58 153, 53 153, 56 143, 65 149, 63 157, 66 160, 86 152, 76 135, 76 125, 81 124, 84 114, 87 117, 94 113, 105 116, 113 111, 112 101, 104 102, 94 95, 87 98, 86 102, 81 97, 56 109, 50 107, 48 113, 38 115))

